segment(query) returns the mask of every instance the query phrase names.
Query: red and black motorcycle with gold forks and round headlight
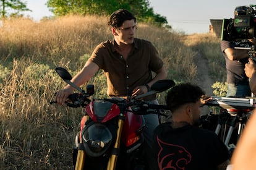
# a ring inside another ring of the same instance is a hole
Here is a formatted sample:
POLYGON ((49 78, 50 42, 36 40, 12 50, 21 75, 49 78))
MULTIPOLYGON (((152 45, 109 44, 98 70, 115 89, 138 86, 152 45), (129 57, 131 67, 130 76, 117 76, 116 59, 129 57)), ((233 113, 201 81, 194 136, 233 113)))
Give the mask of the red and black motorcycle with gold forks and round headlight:
MULTIPOLYGON (((70 82, 72 76, 62 68, 56 72, 69 85, 80 93, 69 96, 66 105, 72 108, 84 108, 80 122, 80 132, 75 137, 73 162, 75 169, 143 169, 143 114, 158 114, 165 105, 148 104, 143 97, 160 93, 173 87, 173 80, 159 80, 151 90, 127 99, 113 97, 90 100, 95 93, 94 85, 87 85, 87 91, 70 82)), ((51 103, 56 103, 51 101, 51 103)))

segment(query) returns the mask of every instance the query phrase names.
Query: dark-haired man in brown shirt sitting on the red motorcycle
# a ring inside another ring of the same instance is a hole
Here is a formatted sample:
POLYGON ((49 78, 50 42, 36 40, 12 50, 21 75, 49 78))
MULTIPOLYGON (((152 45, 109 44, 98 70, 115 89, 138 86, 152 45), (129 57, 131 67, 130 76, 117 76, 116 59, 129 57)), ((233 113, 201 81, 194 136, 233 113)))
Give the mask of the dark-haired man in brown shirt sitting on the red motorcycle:
MULTIPOLYGON (((133 14, 119 9, 110 15, 108 25, 114 39, 96 46, 83 69, 71 80, 75 85, 82 85, 102 69, 107 79, 108 95, 126 97, 128 91, 132 91, 132 96, 147 93, 157 80, 166 79, 166 69, 155 46, 147 40, 134 38, 136 18, 133 14), (155 77, 152 71, 156 73, 155 77)), ((73 90, 70 85, 59 90, 56 101, 63 105, 73 90)), ((157 103, 156 95, 143 100, 157 103)), ((143 134, 151 148, 153 130, 159 124, 158 116, 147 114, 144 118, 146 127, 143 134)))

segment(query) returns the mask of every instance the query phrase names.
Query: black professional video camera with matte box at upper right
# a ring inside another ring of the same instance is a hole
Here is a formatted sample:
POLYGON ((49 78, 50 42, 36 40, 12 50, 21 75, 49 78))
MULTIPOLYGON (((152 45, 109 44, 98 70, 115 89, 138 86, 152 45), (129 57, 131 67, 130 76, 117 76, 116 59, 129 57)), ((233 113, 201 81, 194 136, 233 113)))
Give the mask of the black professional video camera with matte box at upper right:
POLYGON ((256 38, 256 5, 238 6, 234 19, 223 19, 221 40, 256 38))

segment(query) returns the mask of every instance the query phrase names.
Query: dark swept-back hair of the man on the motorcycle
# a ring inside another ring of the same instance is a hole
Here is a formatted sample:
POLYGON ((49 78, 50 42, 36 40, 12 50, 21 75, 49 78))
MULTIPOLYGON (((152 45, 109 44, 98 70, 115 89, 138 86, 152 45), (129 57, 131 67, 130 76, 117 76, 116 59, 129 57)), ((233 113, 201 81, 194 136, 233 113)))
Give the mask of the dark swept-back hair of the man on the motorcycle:
POLYGON ((134 19, 134 22, 136 23, 136 18, 132 13, 130 13, 126 9, 119 9, 110 15, 108 25, 110 27, 118 28, 121 27, 124 21, 132 19, 134 19))

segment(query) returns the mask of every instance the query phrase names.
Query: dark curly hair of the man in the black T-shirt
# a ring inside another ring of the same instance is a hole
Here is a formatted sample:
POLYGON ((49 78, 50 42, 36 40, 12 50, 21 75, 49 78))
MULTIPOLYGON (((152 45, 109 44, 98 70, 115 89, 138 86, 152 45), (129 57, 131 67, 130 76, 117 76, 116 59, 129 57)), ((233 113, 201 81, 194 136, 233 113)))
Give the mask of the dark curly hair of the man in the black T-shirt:
POLYGON ((166 104, 173 112, 183 104, 196 103, 203 95, 205 95, 205 92, 197 85, 181 83, 168 91, 166 104))

